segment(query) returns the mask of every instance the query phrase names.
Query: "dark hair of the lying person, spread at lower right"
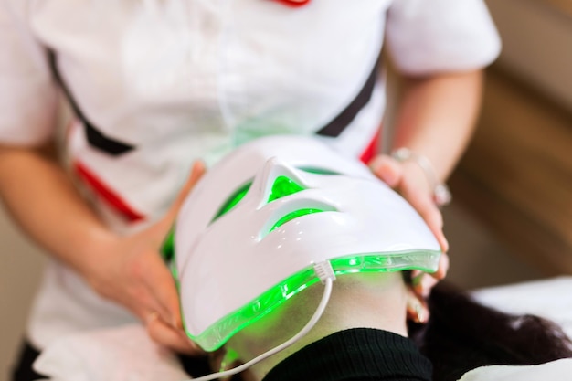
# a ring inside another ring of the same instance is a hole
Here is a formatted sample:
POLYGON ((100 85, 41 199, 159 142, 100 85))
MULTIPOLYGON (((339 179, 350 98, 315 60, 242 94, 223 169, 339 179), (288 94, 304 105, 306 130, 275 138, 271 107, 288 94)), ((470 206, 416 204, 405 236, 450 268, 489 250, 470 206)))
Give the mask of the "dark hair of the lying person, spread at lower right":
POLYGON ((429 322, 410 323, 409 336, 434 366, 434 381, 456 381, 482 365, 536 365, 572 357, 572 342, 534 315, 512 315, 476 302, 441 282, 429 297, 429 322))

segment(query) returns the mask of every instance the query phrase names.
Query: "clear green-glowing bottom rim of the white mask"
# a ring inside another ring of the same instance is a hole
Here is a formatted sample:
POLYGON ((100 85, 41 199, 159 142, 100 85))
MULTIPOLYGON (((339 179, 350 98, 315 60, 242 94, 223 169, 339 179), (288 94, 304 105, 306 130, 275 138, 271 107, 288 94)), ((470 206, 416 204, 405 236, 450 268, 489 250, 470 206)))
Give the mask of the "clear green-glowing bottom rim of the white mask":
MULTIPOLYGON (((393 253, 372 253, 331 259, 336 276, 360 272, 389 272, 402 270, 422 270, 434 272, 439 265, 440 251, 408 250, 393 253)), ((276 310, 300 291, 320 281, 309 266, 274 287, 260 294, 243 307, 228 313, 211 324, 198 335, 186 334, 207 351, 214 351, 225 344, 232 335, 257 322, 268 313, 276 310)))

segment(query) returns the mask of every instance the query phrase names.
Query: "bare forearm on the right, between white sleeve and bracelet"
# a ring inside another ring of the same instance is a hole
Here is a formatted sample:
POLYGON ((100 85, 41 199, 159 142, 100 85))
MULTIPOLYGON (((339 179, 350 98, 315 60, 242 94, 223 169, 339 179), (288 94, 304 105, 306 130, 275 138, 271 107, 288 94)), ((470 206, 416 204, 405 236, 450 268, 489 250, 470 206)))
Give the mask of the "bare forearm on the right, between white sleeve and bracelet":
POLYGON ((406 79, 392 149, 427 156, 444 181, 471 138, 481 94, 481 70, 406 79))

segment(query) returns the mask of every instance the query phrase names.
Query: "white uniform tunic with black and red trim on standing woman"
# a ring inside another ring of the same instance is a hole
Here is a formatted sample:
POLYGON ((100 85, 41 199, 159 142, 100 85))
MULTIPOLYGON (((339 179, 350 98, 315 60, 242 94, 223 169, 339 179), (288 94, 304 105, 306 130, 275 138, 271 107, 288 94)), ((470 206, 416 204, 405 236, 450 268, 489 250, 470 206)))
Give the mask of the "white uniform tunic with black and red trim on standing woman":
MULTIPOLYGON (((0 143, 55 133, 58 85, 79 115, 72 174, 119 231, 163 215, 193 161, 264 134, 317 134, 371 155, 398 69, 479 69, 500 42, 482 0, 0 0, 0 143)), ((52 261, 29 337, 132 321, 52 261)))

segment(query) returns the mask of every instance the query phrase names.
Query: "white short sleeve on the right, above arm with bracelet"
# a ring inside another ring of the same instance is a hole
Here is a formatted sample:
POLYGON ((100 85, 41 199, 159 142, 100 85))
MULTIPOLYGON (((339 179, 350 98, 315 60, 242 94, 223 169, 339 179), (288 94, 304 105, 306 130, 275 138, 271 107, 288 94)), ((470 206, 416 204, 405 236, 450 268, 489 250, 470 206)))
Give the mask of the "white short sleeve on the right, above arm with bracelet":
POLYGON ((397 69, 412 75, 481 69, 501 50, 482 0, 396 0, 386 41, 397 69))

